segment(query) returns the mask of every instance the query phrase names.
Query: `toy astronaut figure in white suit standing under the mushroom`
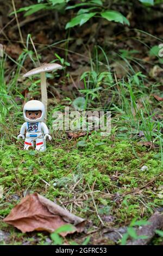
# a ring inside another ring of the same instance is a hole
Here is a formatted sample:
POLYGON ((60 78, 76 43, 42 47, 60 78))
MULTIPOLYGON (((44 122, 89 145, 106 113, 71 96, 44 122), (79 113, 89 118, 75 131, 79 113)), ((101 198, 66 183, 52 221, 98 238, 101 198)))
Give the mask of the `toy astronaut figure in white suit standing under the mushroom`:
POLYGON ((22 125, 17 138, 25 139, 24 149, 28 150, 30 147, 34 147, 35 142, 37 151, 46 151, 46 138, 51 140, 52 137, 49 135, 48 127, 43 123, 45 106, 41 101, 30 100, 24 105, 23 115, 26 122, 22 125))

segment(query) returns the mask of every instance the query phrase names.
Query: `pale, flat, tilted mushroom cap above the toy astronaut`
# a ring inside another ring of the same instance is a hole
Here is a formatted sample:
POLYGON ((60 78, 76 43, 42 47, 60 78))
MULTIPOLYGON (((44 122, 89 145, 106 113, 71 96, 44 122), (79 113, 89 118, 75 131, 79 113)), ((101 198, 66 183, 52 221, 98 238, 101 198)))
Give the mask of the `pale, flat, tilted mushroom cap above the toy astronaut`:
POLYGON ((43 64, 42 66, 39 66, 39 68, 32 69, 28 71, 26 74, 23 75, 23 77, 32 76, 35 74, 40 74, 42 72, 50 72, 52 70, 62 69, 62 66, 56 63, 49 63, 49 64, 43 64))

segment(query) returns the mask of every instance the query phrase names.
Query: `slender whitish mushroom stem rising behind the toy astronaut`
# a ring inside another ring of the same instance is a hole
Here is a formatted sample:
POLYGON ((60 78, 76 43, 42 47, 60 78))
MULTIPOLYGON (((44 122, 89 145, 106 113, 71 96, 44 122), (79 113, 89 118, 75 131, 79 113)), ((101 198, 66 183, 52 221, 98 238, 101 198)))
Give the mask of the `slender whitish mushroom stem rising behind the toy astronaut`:
POLYGON ((47 87, 45 72, 41 72, 41 101, 45 106, 45 121, 47 119, 47 87))

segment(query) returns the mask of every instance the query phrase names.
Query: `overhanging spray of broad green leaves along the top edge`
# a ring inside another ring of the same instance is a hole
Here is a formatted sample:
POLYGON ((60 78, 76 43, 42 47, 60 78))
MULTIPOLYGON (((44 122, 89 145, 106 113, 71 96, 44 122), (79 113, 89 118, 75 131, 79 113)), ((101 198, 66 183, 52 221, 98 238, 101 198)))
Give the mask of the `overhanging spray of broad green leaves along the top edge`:
MULTIPOLYGON (((89 21, 92 17, 103 17, 108 21, 120 22, 129 26, 129 21, 121 13, 114 10, 106 10, 104 3, 101 0, 81 1, 81 3, 68 5, 65 0, 49 0, 47 3, 38 3, 30 5, 29 7, 23 7, 17 10, 17 13, 25 11, 24 16, 32 15, 40 10, 57 10, 67 11, 70 9, 79 9, 77 16, 74 16, 70 22, 66 24, 66 29, 74 26, 82 26, 84 23, 89 21), (92 11, 93 10, 93 11, 92 11)), ((13 13, 11 13, 13 14, 13 13)))

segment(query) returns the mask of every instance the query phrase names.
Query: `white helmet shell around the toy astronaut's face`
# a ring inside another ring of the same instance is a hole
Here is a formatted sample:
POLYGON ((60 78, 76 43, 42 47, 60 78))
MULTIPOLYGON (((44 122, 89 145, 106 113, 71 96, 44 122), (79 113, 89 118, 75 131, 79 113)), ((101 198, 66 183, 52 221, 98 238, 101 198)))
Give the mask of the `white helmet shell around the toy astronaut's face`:
POLYGON ((24 120, 29 123, 43 122, 45 117, 45 106, 39 100, 30 100, 28 101, 23 108, 24 120), (41 111, 41 117, 37 119, 29 119, 26 116, 26 111, 41 111))

